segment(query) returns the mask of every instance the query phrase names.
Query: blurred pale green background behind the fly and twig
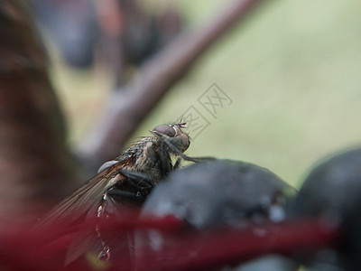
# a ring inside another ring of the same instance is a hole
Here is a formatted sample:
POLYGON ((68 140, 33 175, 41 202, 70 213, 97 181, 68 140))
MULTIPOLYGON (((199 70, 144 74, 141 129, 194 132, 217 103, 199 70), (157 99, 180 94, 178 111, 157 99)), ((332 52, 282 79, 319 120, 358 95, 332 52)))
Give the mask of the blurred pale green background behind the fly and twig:
MULTIPOLYGON (((192 27, 227 1, 177 2, 192 27)), ((299 186, 326 154, 361 142, 361 1, 280 0, 250 14, 174 86, 134 137, 177 120, 190 106, 211 123, 189 155, 262 165, 299 186), (233 100, 217 119, 197 98, 213 83, 233 100)), ((154 11, 166 1, 148 1, 154 11)), ((51 77, 77 145, 110 89, 101 68, 69 70, 51 50, 51 77)))

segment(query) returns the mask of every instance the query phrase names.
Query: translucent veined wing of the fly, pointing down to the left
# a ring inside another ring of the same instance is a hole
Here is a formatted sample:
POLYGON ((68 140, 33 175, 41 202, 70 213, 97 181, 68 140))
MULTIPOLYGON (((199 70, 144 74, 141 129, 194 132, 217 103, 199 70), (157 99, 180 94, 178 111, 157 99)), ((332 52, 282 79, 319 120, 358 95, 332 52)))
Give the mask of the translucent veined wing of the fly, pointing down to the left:
POLYGON ((119 182, 124 176, 119 176, 117 170, 124 168, 130 163, 131 157, 120 161, 106 168, 103 172, 98 173, 93 179, 82 185, 79 190, 74 192, 64 201, 61 201, 58 206, 51 210, 40 222, 39 225, 51 225, 57 221, 67 224, 79 219, 86 214, 89 209, 94 207, 97 201, 100 201, 109 183, 119 182), (116 180, 116 181, 115 181, 116 180))

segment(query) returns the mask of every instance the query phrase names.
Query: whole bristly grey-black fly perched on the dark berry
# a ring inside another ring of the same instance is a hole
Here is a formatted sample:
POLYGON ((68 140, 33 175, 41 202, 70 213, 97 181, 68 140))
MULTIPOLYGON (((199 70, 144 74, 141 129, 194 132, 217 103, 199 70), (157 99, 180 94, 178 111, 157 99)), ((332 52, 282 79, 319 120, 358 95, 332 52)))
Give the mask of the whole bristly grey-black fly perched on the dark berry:
MULTIPOLYGON (((179 166, 181 158, 193 162, 202 159, 183 154, 190 146, 189 135, 182 131, 185 125, 156 126, 152 135, 134 142, 115 160, 103 164, 94 178, 61 201, 40 224, 64 220, 70 224, 84 216, 103 220, 109 214, 116 214, 120 206, 140 206, 153 187, 179 166), (172 157, 176 158, 174 164, 172 157)), ((98 226, 95 232, 103 247, 99 258, 106 259, 110 255, 109 247, 98 226)), ((68 262, 83 252, 72 251, 68 262)))

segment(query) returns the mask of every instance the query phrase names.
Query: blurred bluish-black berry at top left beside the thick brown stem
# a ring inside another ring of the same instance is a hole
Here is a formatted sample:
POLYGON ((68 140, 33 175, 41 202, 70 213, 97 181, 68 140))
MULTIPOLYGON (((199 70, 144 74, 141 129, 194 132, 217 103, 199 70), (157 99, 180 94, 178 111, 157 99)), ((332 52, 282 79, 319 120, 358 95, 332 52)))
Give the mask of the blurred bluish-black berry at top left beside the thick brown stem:
POLYGON ((88 68, 99 35, 93 1, 30 0, 35 18, 51 35, 69 65, 88 68))

